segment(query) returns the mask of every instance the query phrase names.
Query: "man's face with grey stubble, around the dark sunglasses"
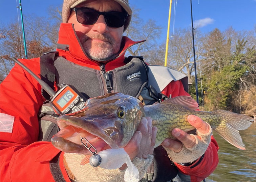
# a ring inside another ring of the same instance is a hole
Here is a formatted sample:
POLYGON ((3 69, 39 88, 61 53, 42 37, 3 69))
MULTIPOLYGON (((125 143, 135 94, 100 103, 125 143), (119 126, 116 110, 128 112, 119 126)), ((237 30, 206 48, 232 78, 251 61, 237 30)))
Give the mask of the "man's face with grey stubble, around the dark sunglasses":
MULTIPOLYGON (((122 12, 121 5, 115 1, 85 1, 76 7, 88 7, 100 12, 122 12)), ((68 23, 74 24, 84 51, 92 59, 107 59, 119 52, 124 26, 108 27, 103 15, 95 24, 83 25, 77 21, 75 11, 71 12, 68 23)))

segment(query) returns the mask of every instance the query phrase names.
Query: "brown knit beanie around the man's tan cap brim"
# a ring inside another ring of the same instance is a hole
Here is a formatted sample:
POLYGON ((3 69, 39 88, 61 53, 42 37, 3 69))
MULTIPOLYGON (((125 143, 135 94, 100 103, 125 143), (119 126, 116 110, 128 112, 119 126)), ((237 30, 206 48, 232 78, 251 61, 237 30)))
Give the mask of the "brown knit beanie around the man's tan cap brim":
MULTIPOLYGON (((63 6, 62 6, 62 22, 67 23, 68 18, 70 16, 71 8, 76 7, 78 4, 80 4, 84 1, 86 1, 86 0, 64 0, 63 6)), ((114 0, 114 1, 118 2, 124 8, 124 10, 128 13, 128 17, 126 18, 126 21, 124 24, 124 31, 125 31, 130 24, 132 10, 129 6, 128 0, 114 0)))

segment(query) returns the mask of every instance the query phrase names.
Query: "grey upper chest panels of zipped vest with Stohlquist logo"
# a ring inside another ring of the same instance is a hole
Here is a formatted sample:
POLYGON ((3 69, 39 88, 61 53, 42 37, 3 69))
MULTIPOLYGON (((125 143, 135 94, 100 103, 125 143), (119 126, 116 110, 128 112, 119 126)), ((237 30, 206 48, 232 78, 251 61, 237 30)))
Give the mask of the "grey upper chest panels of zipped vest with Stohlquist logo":
POLYGON ((126 65, 107 72, 104 67, 95 70, 74 64, 63 57, 56 59, 54 67, 57 83, 72 85, 87 99, 108 92, 121 92, 137 98, 148 80, 148 67, 136 57, 126 65))

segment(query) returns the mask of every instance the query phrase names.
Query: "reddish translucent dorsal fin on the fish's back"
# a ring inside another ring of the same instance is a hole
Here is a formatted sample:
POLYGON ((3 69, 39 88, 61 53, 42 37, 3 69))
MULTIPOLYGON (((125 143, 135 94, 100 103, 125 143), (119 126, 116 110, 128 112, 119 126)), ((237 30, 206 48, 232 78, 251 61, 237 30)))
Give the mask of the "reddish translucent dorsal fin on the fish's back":
POLYGON ((199 109, 198 103, 190 96, 177 96, 177 97, 173 97, 173 98, 169 98, 167 100, 164 100, 161 103, 180 105, 183 108, 186 108, 186 109, 189 109, 189 110, 199 109))

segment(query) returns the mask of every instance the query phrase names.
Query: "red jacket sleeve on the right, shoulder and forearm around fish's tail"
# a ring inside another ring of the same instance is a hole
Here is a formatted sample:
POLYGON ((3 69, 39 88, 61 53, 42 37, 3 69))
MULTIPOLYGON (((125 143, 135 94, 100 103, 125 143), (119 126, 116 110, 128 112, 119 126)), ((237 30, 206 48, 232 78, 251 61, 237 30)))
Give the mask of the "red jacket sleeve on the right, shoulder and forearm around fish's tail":
MULTIPOLYGON (((183 87, 182 82, 179 81, 172 81, 169 83, 164 90, 162 91, 163 94, 166 96, 171 95, 171 97, 176 97, 180 95, 189 95, 183 87)), ((216 140, 211 136, 211 143, 207 148, 204 157, 199 161, 195 161, 190 166, 183 166, 177 163, 176 166, 179 171, 185 175, 189 175, 192 182, 202 181, 206 177, 208 177, 217 167, 219 158, 218 158, 218 151, 219 147, 216 140)))

